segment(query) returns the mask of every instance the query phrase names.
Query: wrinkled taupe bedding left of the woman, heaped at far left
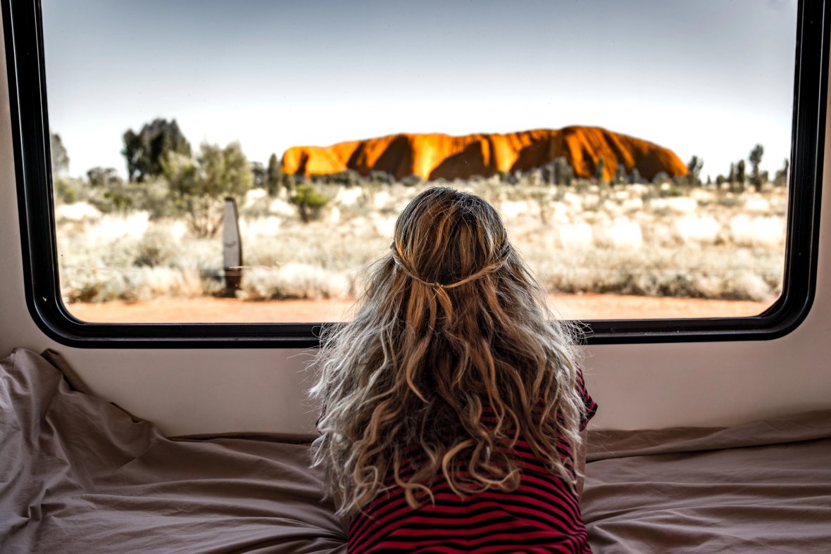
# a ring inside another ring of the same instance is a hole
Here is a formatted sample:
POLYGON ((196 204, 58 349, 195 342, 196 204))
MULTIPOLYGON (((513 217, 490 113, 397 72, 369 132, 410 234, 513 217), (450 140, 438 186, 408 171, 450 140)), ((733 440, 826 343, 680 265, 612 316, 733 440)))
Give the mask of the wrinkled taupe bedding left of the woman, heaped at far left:
POLYGON ((0 371, 0 552, 346 552, 307 444, 165 439, 40 355, 0 371))

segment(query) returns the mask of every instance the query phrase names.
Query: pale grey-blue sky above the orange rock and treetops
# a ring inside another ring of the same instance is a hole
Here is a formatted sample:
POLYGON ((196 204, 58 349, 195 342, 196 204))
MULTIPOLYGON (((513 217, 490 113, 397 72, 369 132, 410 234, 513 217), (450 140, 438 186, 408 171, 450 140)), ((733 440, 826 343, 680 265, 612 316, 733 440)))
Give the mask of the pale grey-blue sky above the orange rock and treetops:
POLYGON ((796 0, 43 0, 70 174, 175 119, 252 161, 400 132, 597 125, 704 160, 789 157, 796 0))

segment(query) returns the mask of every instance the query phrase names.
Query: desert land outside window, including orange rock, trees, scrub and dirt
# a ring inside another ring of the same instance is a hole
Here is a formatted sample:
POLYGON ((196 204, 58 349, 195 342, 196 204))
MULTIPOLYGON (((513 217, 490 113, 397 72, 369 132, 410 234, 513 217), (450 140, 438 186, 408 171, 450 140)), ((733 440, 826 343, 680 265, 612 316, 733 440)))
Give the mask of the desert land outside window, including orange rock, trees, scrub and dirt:
POLYGON ((750 316, 781 292, 788 188, 784 173, 758 172, 760 154, 753 174, 741 161, 703 183, 695 158, 599 128, 293 147, 267 171, 235 144, 183 152, 130 183, 104 169, 57 181, 61 297, 77 318, 345 321, 361 270, 431 186, 493 204, 563 317, 750 316), (219 233, 229 195, 243 252, 234 290, 219 233))

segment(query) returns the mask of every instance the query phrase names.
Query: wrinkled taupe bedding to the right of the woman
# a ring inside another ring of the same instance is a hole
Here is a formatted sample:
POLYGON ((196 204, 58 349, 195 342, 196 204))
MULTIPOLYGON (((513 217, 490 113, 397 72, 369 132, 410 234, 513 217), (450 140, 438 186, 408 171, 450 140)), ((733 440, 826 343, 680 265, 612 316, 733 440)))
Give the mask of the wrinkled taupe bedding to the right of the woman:
POLYGON ((594 552, 831 552, 831 411, 597 431, 587 459, 594 552))

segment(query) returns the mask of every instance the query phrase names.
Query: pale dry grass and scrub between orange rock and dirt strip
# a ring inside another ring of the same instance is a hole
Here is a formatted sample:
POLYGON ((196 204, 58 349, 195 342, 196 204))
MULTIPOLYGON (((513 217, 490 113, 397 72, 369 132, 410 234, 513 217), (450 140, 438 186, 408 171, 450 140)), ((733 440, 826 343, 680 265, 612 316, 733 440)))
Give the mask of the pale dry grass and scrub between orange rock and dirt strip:
MULTIPOLYGON (((247 269, 238 296, 353 297, 358 270, 386 251, 396 214, 424 186, 322 186, 332 201, 311 223, 285 198, 250 192, 240 205, 247 269)), ((550 292, 770 302, 781 289, 785 189, 498 179, 450 186, 499 209, 550 292)), ((57 208, 57 242, 65 302, 200 297, 223 288, 221 238, 194 238, 183 221, 65 205, 57 208)))

